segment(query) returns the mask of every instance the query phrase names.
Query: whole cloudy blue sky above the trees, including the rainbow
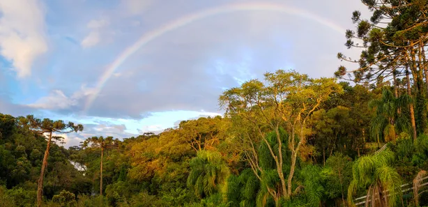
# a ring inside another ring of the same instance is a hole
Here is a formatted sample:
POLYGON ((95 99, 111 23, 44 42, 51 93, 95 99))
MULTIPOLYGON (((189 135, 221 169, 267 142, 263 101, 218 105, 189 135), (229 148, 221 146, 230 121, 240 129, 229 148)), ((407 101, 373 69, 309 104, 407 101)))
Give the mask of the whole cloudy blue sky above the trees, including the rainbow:
POLYGON ((332 77, 359 0, 0 0, 0 113, 162 132, 264 72, 332 77))

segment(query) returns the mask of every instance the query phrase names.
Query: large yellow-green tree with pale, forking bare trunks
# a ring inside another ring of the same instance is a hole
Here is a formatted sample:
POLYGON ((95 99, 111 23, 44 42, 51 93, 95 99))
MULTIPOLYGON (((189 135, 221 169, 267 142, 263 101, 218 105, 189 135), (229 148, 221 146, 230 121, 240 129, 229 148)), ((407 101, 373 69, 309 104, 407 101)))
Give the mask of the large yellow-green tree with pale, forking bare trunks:
POLYGON ((293 192, 291 181, 300 150, 305 147, 309 117, 331 93, 341 93, 342 87, 333 78, 312 79, 293 70, 267 72, 264 76, 265 82, 253 79, 224 91, 220 105, 238 125, 245 159, 260 181, 267 172, 259 165, 257 148, 260 144, 268 148, 280 183, 275 188, 264 187, 278 206, 280 199, 289 199, 293 192), (281 135, 281 129, 287 136, 281 135), (277 141, 268 140, 269 132, 275 133, 277 141), (289 151, 290 156, 284 151, 289 151))

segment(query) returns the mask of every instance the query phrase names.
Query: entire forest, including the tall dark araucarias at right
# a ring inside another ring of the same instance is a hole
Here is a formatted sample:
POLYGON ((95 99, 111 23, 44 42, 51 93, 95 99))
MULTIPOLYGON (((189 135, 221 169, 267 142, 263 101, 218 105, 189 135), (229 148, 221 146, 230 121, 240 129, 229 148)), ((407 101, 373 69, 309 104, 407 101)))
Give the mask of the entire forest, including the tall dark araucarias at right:
POLYGON ((361 2, 357 59, 266 72, 223 116, 67 149, 84 125, 0 114, 0 206, 428 206, 428 1, 361 2))

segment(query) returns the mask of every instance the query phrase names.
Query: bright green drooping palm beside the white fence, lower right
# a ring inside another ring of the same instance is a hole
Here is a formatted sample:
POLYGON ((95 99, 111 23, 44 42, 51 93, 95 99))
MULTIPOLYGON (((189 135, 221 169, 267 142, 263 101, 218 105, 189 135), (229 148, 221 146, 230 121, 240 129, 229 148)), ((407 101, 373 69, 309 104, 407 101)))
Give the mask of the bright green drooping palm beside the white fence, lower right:
POLYGON ((348 202, 353 204, 353 194, 358 189, 367 190, 366 204, 395 206, 402 196, 400 178, 391 167, 394 153, 386 148, 376 155, 365 155, 353 164, 353 180, 348 189, 348 202))

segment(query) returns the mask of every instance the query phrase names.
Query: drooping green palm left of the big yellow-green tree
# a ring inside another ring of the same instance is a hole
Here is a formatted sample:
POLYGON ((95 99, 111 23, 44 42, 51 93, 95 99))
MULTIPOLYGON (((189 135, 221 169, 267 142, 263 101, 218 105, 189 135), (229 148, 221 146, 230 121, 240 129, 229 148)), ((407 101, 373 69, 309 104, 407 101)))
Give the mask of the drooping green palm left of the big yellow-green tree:
POLYGON ((188 187, 199 198, 208 197, 220 191, 229 177, 229 168, 220 153, 199 151, 190 161, 188 187))

